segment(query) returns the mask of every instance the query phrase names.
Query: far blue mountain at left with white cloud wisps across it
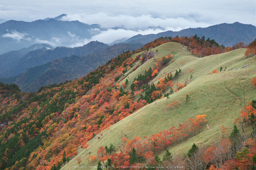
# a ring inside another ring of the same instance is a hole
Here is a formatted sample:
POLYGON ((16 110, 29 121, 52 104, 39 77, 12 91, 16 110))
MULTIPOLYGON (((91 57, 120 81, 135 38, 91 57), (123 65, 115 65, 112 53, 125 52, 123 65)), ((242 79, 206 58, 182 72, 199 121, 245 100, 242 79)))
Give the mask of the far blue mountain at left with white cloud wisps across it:
POLYGON ((98 24, 88 25, 79 21, 10 20, 0 24, 0 54, 36 43, 49 43, 54 47, 72 46, 78 41, 90 39, 100 30, 101 27, 98 24))

